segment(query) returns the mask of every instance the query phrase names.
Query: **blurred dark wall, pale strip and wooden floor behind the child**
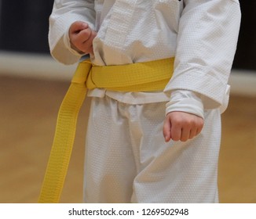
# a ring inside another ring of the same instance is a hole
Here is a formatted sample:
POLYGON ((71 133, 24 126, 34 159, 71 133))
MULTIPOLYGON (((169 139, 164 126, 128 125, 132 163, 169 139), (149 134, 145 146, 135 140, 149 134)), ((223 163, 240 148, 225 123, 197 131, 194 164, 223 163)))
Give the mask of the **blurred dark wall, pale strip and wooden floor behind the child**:
MULTIPOLYGON (((222 115, 221 203, 256 203, 256 2, 240 5, 231 96, 222 115)), ((53 0, 0 0, 0 203, 37 202, 57 111, 75 70, 49 56, 52 7, 53 0)), ((82 107, 62 203, 82 202, 88 104, 82 107)))

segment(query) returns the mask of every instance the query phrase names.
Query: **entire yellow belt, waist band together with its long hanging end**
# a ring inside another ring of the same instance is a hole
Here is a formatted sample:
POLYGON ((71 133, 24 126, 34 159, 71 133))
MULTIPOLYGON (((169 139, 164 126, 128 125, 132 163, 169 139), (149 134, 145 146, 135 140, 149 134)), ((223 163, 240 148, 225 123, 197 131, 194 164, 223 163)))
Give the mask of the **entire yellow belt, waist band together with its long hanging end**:
POLYGON ((76 121, 86 90, 105 88, 117 92, 151 92, 165 88, 174 71, 174 58, 124 66, 79 63, 61 103, 53 146, 38 203, 58 203, 75 139, 76 121))

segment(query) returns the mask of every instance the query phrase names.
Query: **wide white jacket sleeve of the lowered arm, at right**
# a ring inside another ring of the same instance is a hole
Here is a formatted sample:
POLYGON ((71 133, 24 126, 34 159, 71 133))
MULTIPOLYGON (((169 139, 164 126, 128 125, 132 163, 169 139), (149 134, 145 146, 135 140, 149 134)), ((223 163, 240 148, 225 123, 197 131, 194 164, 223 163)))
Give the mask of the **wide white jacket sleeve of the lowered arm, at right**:
POLYGON ((204 109, 225 105, 240 30, 238 0, 184 0, 174 75, 165 92, 196 92, 204 109))

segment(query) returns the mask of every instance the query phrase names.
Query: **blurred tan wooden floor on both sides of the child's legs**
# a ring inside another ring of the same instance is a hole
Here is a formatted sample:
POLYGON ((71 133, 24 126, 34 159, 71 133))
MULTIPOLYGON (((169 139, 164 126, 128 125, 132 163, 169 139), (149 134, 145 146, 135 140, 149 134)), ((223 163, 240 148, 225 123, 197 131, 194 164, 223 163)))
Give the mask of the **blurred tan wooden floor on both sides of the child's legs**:
MULTIPOLYGON (((69 83, 0 77, 0 203, 36 203, 69 83)), ((88 108, 79 117, 62 203, 82 202, 88 108)), ((221 203, 256 203, 256 98, 231 96, 223 114, 221 203)))

